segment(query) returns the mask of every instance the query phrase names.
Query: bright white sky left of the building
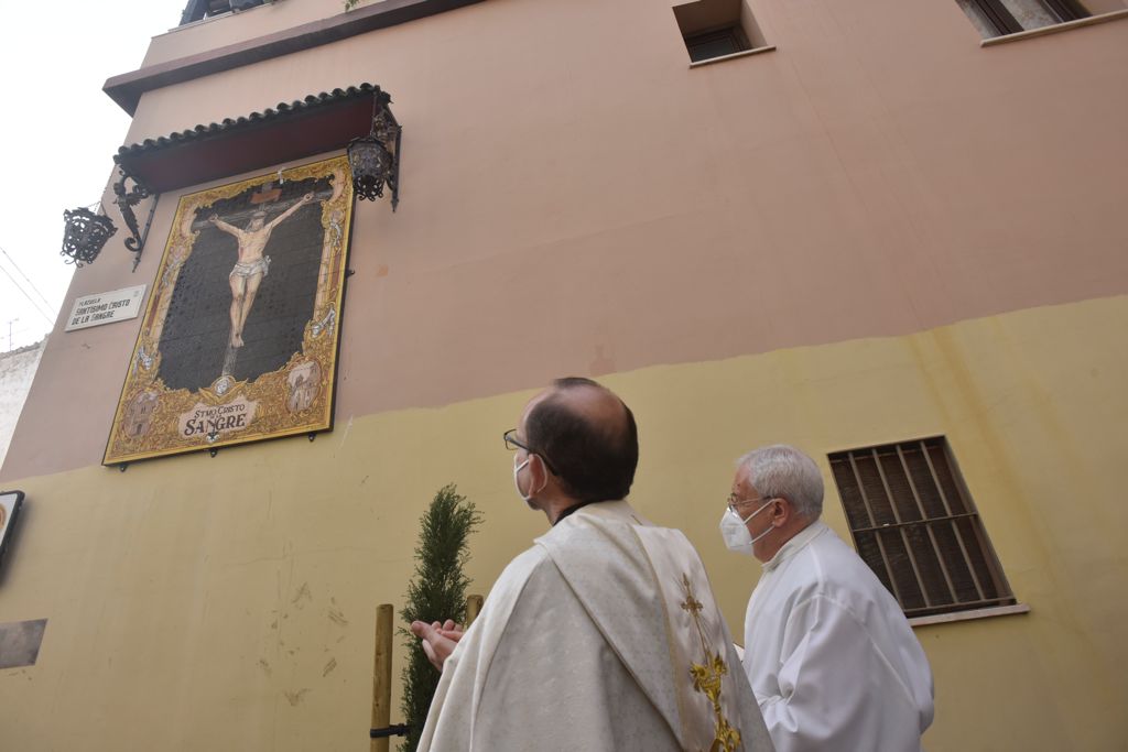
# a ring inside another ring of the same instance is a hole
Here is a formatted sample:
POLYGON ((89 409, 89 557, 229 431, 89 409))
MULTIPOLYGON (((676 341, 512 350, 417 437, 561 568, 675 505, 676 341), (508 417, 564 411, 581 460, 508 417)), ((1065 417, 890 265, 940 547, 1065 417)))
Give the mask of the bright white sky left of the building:
MULTIPOLYGON (((54 326, 74 269, 59 254, 63 210, 87 206, 102 196, 130 124, 102 86, 112 76, 136 70, 150 37, 175 27, 186 2, 52 0, 17 3, 5 11, 0 352, 9 348, 9 322, 15 347, 42 339, 54 326)), ((106 206, 106 212, 117 225, 118 240, 129 230, 116 206, 106 206)), ((144 221, 143 214, 139 221, 144 221)), ((126 251, 118 245, 103 253, 126 251)))

